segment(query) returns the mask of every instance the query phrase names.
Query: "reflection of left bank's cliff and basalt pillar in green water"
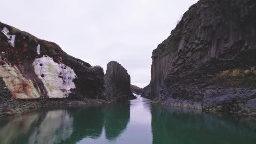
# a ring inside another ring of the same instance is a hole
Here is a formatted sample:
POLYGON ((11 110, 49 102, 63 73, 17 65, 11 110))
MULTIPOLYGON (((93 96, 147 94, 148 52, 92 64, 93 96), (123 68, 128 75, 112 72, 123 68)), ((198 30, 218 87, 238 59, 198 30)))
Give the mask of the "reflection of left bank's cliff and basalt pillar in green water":
POLYGON ((0 119, 0 144, 76 144, 102 135, 115 140, 130 119, 129 101, 40 111, 0 119))

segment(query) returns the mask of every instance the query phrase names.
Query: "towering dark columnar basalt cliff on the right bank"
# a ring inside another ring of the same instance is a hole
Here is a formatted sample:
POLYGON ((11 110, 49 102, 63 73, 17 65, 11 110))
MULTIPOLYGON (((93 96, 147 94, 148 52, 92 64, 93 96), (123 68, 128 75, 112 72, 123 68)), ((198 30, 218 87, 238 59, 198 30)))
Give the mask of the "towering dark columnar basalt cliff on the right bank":
POLYGON ((179 107, 252 115, 244 108, 256 98, 255 17, 255 0, 192 5, 152 53, 153 98, 179 107))

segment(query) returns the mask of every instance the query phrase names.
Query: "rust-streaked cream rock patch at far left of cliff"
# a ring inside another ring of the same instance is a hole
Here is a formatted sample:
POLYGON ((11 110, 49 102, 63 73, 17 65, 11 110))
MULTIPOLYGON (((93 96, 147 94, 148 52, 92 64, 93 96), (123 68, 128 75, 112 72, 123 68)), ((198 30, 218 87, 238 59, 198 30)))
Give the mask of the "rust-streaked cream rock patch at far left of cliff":
POLYGON ((32 80, 24 77, 16 65, 10 66, 6 62, 4 65, 0 65, 0 77, 3 77, 7 88, 15 99, 36 99, 40 97, 40 92, 35 88, 32 80))

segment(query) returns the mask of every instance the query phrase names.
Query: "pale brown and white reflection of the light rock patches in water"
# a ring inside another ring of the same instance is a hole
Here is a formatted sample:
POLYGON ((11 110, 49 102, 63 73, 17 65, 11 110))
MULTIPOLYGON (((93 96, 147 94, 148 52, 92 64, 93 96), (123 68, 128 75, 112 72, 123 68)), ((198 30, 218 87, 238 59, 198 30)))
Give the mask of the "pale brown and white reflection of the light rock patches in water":
POLYGON ((0 125, 0 144, 59 144, 71 135, 73 117, 51 110, 2 118, 0 125))

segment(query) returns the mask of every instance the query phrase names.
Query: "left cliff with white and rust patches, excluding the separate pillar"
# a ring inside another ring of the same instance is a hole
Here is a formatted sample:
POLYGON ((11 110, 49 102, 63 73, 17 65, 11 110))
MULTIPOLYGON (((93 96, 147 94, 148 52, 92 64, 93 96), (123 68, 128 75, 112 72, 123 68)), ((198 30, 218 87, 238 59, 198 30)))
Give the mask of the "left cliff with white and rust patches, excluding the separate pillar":
POLYGON ((104 90, 101 67, 92 67, 69 56, 55 43, 3 23, 0 23, 0 77, 13 99, 95 98, 104 90))

